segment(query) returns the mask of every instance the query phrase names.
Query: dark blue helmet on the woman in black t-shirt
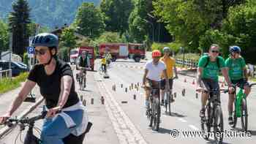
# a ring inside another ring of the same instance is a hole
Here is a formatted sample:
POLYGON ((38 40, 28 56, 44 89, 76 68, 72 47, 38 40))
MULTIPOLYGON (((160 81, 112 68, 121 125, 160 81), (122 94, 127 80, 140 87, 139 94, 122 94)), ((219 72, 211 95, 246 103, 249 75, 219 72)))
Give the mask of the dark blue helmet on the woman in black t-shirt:
POLYGON ((59 38, 55 34, 42 33, 37 34, 32 41, 32 46, 45 46, 58 48, 59 38))

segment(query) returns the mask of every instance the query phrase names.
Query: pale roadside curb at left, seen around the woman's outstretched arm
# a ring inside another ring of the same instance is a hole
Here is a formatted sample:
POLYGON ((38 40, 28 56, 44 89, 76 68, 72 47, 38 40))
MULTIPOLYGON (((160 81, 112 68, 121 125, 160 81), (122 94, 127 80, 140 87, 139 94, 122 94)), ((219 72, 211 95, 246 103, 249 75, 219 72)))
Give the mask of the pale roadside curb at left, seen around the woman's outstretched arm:
MULTIPOLYGON (((36 103, 34 103, 34 105, 31 105, 27 110, 23 111, 20 115, 18 115, 18 118, 23 118, 24 116, 28 115, 29 113, 31 113, 31 111, 33 111, 38 105, 40 105, 42 103, 42 101, 44 100, 43 97, 41 97, 36 103)), ((7 132, 10 132, 10 130, 13 128, 9 127, 9 126, 4 126, 2 129, 0 129, 0 139, 7 134, 7 132)))

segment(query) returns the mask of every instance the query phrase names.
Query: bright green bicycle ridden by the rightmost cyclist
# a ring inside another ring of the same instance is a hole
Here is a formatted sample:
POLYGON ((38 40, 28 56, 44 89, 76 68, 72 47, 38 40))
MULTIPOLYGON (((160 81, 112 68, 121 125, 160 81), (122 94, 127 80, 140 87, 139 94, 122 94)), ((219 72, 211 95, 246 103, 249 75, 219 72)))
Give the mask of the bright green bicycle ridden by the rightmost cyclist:
MULTIPOLYGON (((251 83, 249 84, 249 87, 252 87, 255 85, 256 83, 251 83)), ((238 83, 234 86, 235 94, 236 94, 236 86, 238 86, 238 83)), ((246 95, 244 94, 244 91, 242 88, 240 88, 238 93, 236 94, 234 106, 235 106, 235 110, 233 115, 232 127, 236 128, 237 120, 238 118, 241 118, 242 131, 246 132, 248 128, 248 111, 247 111, 246 95)))

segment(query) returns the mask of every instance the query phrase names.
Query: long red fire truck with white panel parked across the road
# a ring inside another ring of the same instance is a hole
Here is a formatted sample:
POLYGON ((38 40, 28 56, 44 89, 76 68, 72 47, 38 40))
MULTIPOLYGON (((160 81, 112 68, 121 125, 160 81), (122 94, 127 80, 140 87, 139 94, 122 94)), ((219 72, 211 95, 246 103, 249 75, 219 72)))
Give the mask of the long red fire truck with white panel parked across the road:
POLYGON ((145 47, 138 43, 104 43, 99 45, 99 56, 102 57, 106 51, 109 51, 112 56, 112 61, 117 58, 132 58, 136 62, 145 58, 145 47))

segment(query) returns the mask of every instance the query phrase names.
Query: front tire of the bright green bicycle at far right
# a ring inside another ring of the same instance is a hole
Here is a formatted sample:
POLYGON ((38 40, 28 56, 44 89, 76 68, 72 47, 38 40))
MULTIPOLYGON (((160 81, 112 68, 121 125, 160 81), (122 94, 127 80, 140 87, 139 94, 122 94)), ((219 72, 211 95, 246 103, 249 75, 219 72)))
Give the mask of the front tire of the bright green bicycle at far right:
POLYGON ((242 113, 242 115, 241 115, 242 131, 246 132, 247 131, 247 126, 248 126, 248 113, 247 113, 246 99, 242 99, 241 113, 242 113))

